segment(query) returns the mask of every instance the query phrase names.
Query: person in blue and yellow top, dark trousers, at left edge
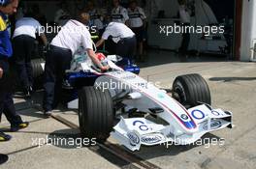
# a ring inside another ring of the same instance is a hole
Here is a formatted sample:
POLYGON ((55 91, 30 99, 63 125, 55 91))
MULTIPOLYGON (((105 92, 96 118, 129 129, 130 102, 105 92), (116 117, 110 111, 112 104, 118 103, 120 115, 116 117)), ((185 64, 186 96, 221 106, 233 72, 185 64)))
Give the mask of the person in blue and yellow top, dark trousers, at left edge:
MULTIPOLYGON (((11 131, 28 127, 16 113, 12 95, 12 78, 9 72, 8 59, 13 55, 10 33, 7 26, 7 14, 16 13, 18 0, 0 0, 0 120, 2 113, 11 124, 11 131)), ((8 141, 12 137, 0 131, 0 142, 8 141)))

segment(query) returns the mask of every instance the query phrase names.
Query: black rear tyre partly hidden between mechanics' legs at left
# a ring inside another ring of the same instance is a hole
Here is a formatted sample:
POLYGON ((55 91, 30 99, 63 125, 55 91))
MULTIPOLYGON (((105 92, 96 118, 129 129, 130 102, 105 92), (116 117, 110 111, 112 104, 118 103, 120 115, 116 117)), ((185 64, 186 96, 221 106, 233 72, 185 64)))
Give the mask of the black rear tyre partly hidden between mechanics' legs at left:
POLYGON ((44 59, 33 59, 31 60, 32 65, 32 76, 34 80, 33 88, 35 90, 43 88, 44 82, 44 70, 42 68, 42 63, 45 63, 44 59))

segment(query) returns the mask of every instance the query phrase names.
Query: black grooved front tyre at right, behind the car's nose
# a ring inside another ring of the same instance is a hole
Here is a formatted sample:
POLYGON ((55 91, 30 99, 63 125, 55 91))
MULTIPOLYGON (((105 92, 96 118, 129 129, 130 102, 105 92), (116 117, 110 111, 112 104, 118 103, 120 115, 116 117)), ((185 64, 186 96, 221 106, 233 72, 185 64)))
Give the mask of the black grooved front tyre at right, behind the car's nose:
POLYGON ((204 102, 211 104, 206 80, 200 74, 187 74, 176 77, 173 84, 173 98, 186 107, 204 102))

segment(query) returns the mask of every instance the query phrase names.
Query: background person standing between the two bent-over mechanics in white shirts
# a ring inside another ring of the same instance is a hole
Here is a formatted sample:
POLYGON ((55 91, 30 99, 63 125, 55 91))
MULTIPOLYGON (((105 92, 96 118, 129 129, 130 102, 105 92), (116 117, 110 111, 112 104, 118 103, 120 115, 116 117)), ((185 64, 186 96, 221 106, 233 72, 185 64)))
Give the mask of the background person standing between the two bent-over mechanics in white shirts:
POLYGON ((104 25, 103 25, 103 15, 100 12, 100 9, 94 7, 94 3, 89 1, 88 4, 88 14, 90 14, 90 25, 96 26, 100 36, 103 34, 104 25))

